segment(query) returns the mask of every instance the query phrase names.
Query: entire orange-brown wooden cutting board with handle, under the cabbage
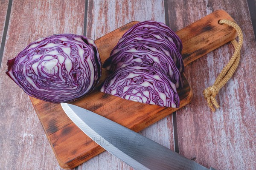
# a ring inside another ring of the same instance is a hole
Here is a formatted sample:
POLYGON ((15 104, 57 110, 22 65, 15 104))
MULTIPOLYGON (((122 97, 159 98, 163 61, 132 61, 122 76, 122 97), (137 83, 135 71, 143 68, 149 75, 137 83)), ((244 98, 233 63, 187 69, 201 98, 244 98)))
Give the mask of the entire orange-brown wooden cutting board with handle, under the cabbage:
MULTIPOLYGON (((185 66, 237 36, 232 27, 218 24, 218 20, 221 19, 233 21, 225 11, 218 10, 176 32, 183 43, 182 57, 185 66)), ((128 23, 95 41, 102 63, 109 57, 111 50, 125 31, 136 23, 138 22, 128 23)), ((146 105, 104 94, 99 89, 107 76, 108 71, 102 69, 102 77, 96 89, 72 104, 105 116, 136 132, 179 109, 146 105)), ((192 89, 185 75, 183 80, 184 87, 177 90, 180 96, 180 108, 192 100, 192 89)), ((62 168, 74 168, 104 151, 67 117, 60 104, 44 102, 33 97, 30 99, 62 168)))

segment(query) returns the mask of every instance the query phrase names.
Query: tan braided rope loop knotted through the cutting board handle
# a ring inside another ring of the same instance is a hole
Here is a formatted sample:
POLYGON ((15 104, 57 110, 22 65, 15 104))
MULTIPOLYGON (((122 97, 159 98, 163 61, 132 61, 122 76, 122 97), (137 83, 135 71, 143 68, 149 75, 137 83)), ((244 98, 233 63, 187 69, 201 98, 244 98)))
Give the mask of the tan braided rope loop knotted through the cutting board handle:
POLYGON ((220 20, 219 24, 227 24, 236 29, 236 32, 239 37, 239 42, 235 39, 231 41, 231 43, 235 47, 235 52, 233 56, 230 58, 230 61, 227 65, 222 69, 221 73, 216 78, 214 84, 206 89, 204 89, 203 94, 204 98, 207 100, 207 105, 213 112, 215 112, 215 108, 219 108, 218 102, 215 99, 215 96, 218 94, 218 91, 227 83, 227 81, 233 76, 236 71, 237 66, 240 61, 240 51, 243 44, 243 33, 241 28, 234 22, 230 20, 220 20), (215 106, 215 108, 214 108, 215 106))

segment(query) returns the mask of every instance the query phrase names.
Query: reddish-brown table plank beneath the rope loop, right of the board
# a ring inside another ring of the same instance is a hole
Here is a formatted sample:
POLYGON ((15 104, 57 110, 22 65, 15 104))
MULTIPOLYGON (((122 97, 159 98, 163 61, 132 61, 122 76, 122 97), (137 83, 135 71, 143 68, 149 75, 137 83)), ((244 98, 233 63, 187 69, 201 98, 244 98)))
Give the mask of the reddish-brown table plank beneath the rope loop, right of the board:
POLYGON ((216 169, 255 169, 256 43, 245 0, 168 1, 171 28, 183 28, 218 9, 226 10, 244 33, 239 67, 216 97, 221 108, 211 113, 202 91, 212 85, 234 48, 230 43, 186 67, 194 96, 177 111, 180 154, 216 169), (186 9, 186 10, 185 10, 186 9))

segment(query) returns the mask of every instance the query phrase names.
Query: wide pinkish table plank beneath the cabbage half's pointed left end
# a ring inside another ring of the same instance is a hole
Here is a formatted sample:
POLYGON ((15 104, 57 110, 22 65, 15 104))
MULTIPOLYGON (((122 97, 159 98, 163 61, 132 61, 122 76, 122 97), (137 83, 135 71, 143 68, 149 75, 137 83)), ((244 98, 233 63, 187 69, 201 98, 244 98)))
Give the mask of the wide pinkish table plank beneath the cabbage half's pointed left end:
POLYGON ((82 34, 85 2, 28 0, 22 3, 13 1, 1 67, 0 169, 61 169, 29 97, 4 73, 5 63, 37 38, 58 33, 82 34))

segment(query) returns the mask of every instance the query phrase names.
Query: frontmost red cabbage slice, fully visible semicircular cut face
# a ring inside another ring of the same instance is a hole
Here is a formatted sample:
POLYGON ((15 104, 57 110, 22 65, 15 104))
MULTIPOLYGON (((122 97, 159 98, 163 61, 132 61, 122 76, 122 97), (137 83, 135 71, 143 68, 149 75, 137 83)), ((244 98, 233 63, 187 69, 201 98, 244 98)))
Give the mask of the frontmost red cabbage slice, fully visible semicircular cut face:
POLYGON ((154 67, 134 63, 119 68, 104 82, 102 92, 123 99, 164 107, 179 107, 176 86, 154 67))

